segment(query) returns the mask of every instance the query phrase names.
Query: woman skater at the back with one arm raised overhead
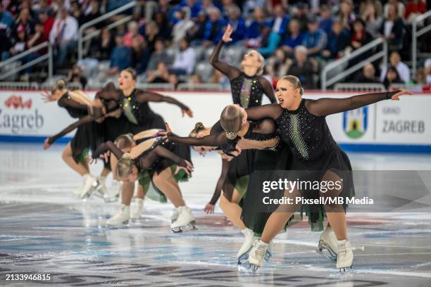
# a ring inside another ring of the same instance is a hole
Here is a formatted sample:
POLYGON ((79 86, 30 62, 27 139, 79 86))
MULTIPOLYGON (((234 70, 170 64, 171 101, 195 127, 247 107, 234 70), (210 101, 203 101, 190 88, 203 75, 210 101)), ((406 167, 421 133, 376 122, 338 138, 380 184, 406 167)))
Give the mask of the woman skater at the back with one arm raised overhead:
POLYGON ((266 94, 271 103, 276 103, 272 85, 261 76, 265 59, 260 53, 254 50, 246 53, 241 63, 242 70, 218 60, 223 43, 232 41, 230 37, 232 32, 232 26, 227 25, 225 34, 211 54, 210 63, 229 78, 233 102, 243 108, 261 106, 262 96, 266 94))

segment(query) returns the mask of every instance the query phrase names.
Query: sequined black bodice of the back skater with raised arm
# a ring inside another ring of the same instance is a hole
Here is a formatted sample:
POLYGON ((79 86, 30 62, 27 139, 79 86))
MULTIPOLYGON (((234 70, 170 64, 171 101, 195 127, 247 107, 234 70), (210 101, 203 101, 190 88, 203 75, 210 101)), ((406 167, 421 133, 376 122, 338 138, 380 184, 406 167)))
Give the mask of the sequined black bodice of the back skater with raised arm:
POLYGON ((261 106, 263 87, 259 76, 249 77, 242 72, 230 81, 230 86, 233 103, 239 104, 242 108, 261 106))

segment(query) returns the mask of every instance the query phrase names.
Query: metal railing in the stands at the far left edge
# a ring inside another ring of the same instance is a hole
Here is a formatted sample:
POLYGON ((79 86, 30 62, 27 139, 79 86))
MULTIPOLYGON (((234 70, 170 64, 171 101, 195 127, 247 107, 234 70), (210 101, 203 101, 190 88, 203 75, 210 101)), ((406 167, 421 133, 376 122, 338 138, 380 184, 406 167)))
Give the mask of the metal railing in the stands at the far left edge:
POLYGON ((49 44, 49 42, 44 42, 42 44, 34 46, 28 50, 23 51, 22 53, 19 53, 18 55, 8 58, 3 62, 0 62, 0 70, 4 70, 3 68, 6 67, 6 71, 1 72, 0 74, 0 80, 11 77, 16 73, 20 72, 21 70, 25 70, 26 68, 32 67, 33 65, 37 65, 38 63, 41 63, 44 60, 48 60, 48 78, 52 79, 52 73, 53 73, 52 58, 53 58, 52 46, 51 44, 49 44), (48 48, 48 53, 40 55, 39 57, 35 58, 34 60, 31 60, 28 63, 25 63, 24 65, 18 65, 15 68, 8 68, 8 65, 11 65, 16 61, 23 59, 25 56, 30 55, 30 53, 34 53, 41 49, 46 49, 46 48, 48 48))

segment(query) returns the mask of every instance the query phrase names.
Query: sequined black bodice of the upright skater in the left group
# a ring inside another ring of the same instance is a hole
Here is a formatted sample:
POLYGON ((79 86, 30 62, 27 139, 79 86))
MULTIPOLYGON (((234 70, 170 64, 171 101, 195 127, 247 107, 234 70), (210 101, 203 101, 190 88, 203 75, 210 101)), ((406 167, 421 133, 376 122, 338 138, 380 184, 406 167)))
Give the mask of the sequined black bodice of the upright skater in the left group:
POLYGON ((130 96, 124 96, 122 92, 118 100, 118 105, 123 110, 127 120, 135 125, 143 124, 154 116, 154 112, 149 107, 148 102, 139 103, 136 100, 136 95, 139 92, 139 90, 135 89, 130 96))

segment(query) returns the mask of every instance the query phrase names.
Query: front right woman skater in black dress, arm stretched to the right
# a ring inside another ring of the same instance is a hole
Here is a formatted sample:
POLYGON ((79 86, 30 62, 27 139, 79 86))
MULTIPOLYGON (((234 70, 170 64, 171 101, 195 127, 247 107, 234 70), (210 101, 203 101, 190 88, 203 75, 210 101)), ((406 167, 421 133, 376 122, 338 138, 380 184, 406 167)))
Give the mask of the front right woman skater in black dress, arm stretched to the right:
MULTIPOLYGON (((301 87, 299 79, 294 76, 286 76, 277 82, 276 94, 280 104, 250 108, 246 110, 249 118, 251 120, 270 118, 276 122, 280 137, 293 154, 291 170, 308 171, 306 177, 300 174, 299 179, 332 182, 344 180, 341 187, 333 186, 325 193, 294 189, 292 193, 285 192, 284 196, 289 198, 301 195, 306 198, 318 198, 318 196, 348 198, 354 195, 350 161, 346 153, 332 139, 325 116, 361 108, 389 98, 399 100, 399 96, 409 95, 411 92, 401 90, 363 94, 350 98, 309 100, 302 98, 304 89, 301 87)), ((298 174, 292 174, 292 178, 296 179, 296 175, 298 174)), ((254 243, 249 255, 249 263, 254 269, 262 266, 268 243, 285 227, 293 210, 299 208, 299 205, 280 205, 279 210, 282 208, 285 208, 284 212, 273 212, 270 215, 261 239, 254 243)), ((351 267, 354 254, 347 239, 345 212, 340 212, 341 208, 344 209, 345 206, 325 205, 323 208, 338 240, 337 268, 351 267)))

